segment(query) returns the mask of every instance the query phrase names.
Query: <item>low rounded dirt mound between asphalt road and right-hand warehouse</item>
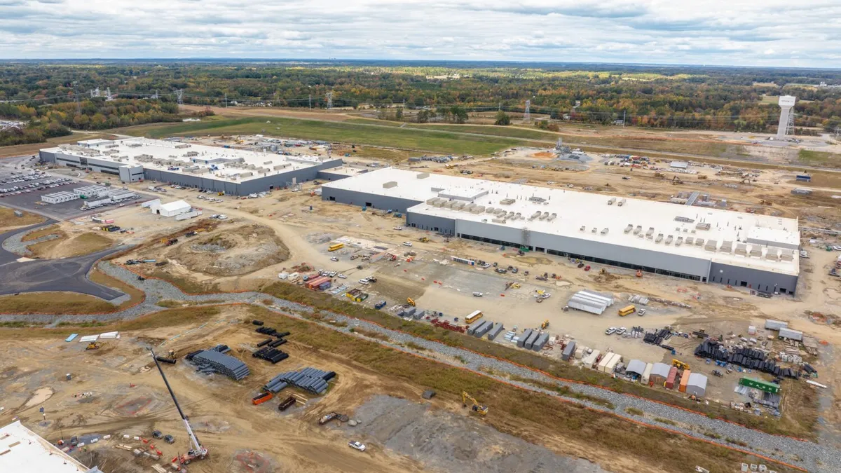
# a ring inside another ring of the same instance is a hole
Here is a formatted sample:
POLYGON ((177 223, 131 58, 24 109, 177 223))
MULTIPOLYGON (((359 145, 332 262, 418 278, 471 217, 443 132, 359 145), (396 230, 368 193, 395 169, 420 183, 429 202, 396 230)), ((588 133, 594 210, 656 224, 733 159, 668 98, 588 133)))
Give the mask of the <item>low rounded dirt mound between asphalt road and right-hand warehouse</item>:
POLYGON ((239 276, 286 261, 289 249, 267 226, 245 225, 172 247, 167 258, 197 273, 239 276))

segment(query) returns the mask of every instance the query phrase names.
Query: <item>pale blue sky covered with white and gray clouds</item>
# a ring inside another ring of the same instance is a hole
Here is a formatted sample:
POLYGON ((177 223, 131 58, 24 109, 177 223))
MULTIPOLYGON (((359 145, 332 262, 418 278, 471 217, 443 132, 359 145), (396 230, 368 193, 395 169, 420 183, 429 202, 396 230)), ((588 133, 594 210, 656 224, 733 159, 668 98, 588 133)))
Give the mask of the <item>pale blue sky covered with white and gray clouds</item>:
POLYGON ((0 58, 841 67, 841 0, 0 0, 0 58))

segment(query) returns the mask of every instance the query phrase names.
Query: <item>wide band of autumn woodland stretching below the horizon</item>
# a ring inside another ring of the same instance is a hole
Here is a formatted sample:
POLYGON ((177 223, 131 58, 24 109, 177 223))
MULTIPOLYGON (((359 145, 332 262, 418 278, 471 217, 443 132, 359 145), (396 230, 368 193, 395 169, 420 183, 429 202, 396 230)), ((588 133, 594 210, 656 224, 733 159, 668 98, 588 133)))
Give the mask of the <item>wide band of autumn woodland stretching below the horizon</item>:
MULTIPOLYGON (((418 66, 383 61, 248 64, 204 63, 0 65, 0 101, 24 105, 40 120, 80 129, 111 128, 172 119, 175 89, 186 104, 262 104, 385 109, 383 118, 409 120, 387 108, 434 110, 462 123, 473 111, 522 112, 555 120, 702 130, 773 131, 775 96, 796 95, 796 126, 834 130, 841 125, 841 72, 701 66, 619 66, 453 62, 418 66), (589 70, 582 70, 583 68, 589 70), (73 82, 77 82, 76 85, 73 82), (82 100, 74 91, 110 88, 117 100, 82 100), (160 100, 143 101, 159 93, 160 100), (29 102, 35 100, 36 102, 29 102), (36 105, 37 104, 37 105, 36 105)), ((0 104, 2 105, 2 104, 0 104)), ((10 117, 8 105, 0 116, 10 117)), ((13 110, 12 110, 13 112, 13 110)), ((29 115, 29 116, 28 116, 29 115)), ((415 120, 431 113, 413 114, 415 120)))

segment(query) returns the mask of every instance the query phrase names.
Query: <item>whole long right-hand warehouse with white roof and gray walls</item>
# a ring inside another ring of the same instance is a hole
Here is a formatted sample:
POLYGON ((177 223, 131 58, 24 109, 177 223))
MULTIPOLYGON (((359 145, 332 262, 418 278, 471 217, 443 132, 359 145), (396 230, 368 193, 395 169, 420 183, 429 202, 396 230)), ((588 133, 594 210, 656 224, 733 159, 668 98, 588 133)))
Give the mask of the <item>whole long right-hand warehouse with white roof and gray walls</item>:
POLYGON ((800 272, 792 219, 395 168, 321 189, 407 226, 701 282, 793 294, 800 272))

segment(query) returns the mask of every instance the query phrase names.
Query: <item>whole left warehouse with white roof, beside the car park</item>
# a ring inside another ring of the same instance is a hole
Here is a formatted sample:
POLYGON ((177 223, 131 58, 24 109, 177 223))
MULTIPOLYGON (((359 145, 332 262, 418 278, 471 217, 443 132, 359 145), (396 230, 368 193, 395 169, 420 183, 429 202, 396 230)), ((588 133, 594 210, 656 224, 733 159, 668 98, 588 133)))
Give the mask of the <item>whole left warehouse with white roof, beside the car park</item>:
POLYGON ((283 156, 167 140, 87 140, 40 151, 42 162, 114 174, 124 183, 151 180, 247 195, 304 183, 341 158, 283 156))

